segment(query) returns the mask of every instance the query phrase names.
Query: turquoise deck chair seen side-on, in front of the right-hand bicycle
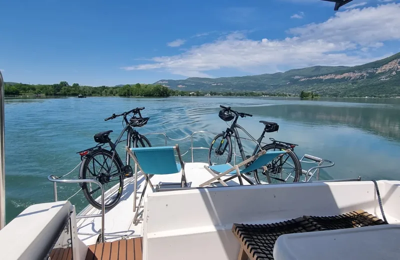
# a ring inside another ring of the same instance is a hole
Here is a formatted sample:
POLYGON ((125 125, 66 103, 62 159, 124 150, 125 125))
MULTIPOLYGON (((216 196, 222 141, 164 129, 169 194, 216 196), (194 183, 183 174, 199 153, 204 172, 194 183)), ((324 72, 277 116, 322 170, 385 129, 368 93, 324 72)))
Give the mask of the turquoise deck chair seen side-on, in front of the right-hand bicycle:
MULTIPOLYGON (((260 152, 256 153, 255 155, 243 160, 242 162, 235 164, 235 165, 230 165, 229 163, 225 164, 217 164, 217 165, 211 165, 207 166, 204 165, 204 168, 211 173, 214 177, 210 178, 209 180, 203 182, 200 184, 200 187, 209 185, 213 183, 214 181, 219 181, 223 186, 227 186, 225 181, 228 181, 232 178, 238 177, 240 185, 243 185, 243 181, 241 178, 245 179, 248 183, 254 184, 251 180, 249 180, 244 173, 251 172, 255 169, 258 168, 263 168, 265 164, 270 162, 271 160, 282 156, 283 154, 287 153, 289 150, 280 150, 280 151, 265 151, 261 150, 260 152), (244 169, 239 169, 239 167, 248 164, 244 169), (236 171, 236 174, 233 176, 230 176, 224 180, 221 179, 221 177, 225 176, 226 174, 233 173, 232 171, 236 171), (219 172, 217 174, 216 172, 219 172)), ((264 170, 266 170, 266 167, 264 167, 264 170)), ((269 175, 267 175, 268 177, 269 175)), ((270 183, 270 180, 268 178, 268 182, 270 183)))

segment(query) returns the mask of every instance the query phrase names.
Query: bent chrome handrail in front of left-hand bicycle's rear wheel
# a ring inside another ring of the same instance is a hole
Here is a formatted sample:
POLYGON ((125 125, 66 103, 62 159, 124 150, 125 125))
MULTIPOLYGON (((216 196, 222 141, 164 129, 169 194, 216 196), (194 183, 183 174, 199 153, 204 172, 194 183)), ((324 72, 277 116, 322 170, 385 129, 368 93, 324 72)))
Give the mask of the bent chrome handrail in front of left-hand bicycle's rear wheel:
POLYGON ((95 179, 59 179, 55 175, 48 175, 47 179, 51 182, 54 183, 54 201, 57 201, 57 182, 61 183, 94 183, 97 184, 100 189, 101 189, 101 214, 92 214, 92 215, 78 215, 76 218, 86 218, 86 217, 100 217, 101 216, 101 230, 100 230, 100 235, 101 235, 101 242, 104 242, 104 214, 105 214, 105 208, 104 208, 104 187, 103 185, 95 180, 95 179))

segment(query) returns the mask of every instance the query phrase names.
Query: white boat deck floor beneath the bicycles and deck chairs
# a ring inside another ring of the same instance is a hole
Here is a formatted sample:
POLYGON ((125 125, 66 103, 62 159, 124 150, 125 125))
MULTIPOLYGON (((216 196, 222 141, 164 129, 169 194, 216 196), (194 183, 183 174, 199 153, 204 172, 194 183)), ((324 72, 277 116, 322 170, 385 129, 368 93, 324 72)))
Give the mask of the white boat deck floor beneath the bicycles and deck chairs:
MULTIPOLYGON (((198 187, 199 184, 212 178, 213 176, 204 168, 204 165, 208 165, 202 162, 188 162, 185 163, 185 174, 188 185, 191 187, 198 187)), ((229 176, 229 175, 227 175, 229 176)), ((180 183, 181 174, 167 174, 167 175, 154 175, 151 178, 153 185, 159 183, 168 182, 179 182, 180 183)), ((226 178, 223 177, 223 178, 226 178)), ((222 179, 223 179, 222 178, 222 179)), ((142 221, 139 221, 137 225, 133 224, 133 185, 134 177, 124 179, 124 187, 122 196, 119 203, 109 211, 105 213, 105 240, 113 241, 121 239, 121 237, 127 236, 142 236, 142 221)), ((136 203, 138 203, 141 191, 144 187, 144 176, 139 173, 137 177, 137 198, 136 203)), ((234 178, 226 182, 229 186, 239 185, 238 179, 234 178)), ((248 184, 243 180, 243 184, 248 184)), ((178 186, 177 186, 178 187, 178 186)), ((115 189, 118 185, 115 186, 115 189)), ((110 192, 106 192, 105 197, 110 192)), ((150 188, 147 187, 146 192, 152 192, 150 188)), ((142 210, 142 209, 140 209, 142 210)), ((99 214, 100 210, 88 205, 79 214, 99 214)), ((139 216, 141 217, 141 216, 139 216)), ((79 238, 87 245, 94 244, 98 237, 98 230, 101 227, 101 218, 82 218, 77 222, 77 230, 79 238)))

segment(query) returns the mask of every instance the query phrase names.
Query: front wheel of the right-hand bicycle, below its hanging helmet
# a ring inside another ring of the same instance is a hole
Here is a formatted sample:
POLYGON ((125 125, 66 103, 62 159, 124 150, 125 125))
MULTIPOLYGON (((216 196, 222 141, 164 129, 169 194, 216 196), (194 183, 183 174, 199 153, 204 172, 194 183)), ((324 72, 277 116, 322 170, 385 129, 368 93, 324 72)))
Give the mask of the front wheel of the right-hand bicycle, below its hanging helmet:
POLYGON ((230 136, 224 133, 217 134, 208 149, 208 165, 224 164, 232 158, 232 143, 230 136))

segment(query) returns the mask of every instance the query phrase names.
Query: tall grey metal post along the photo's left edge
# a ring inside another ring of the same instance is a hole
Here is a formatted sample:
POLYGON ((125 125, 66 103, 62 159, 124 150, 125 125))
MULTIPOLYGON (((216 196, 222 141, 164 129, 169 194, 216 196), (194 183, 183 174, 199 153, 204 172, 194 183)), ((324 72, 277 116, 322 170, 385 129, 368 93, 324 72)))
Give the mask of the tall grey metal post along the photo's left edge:
POLYGON ((4 80, 0 71, 0 229, 5 225, 4 80))

